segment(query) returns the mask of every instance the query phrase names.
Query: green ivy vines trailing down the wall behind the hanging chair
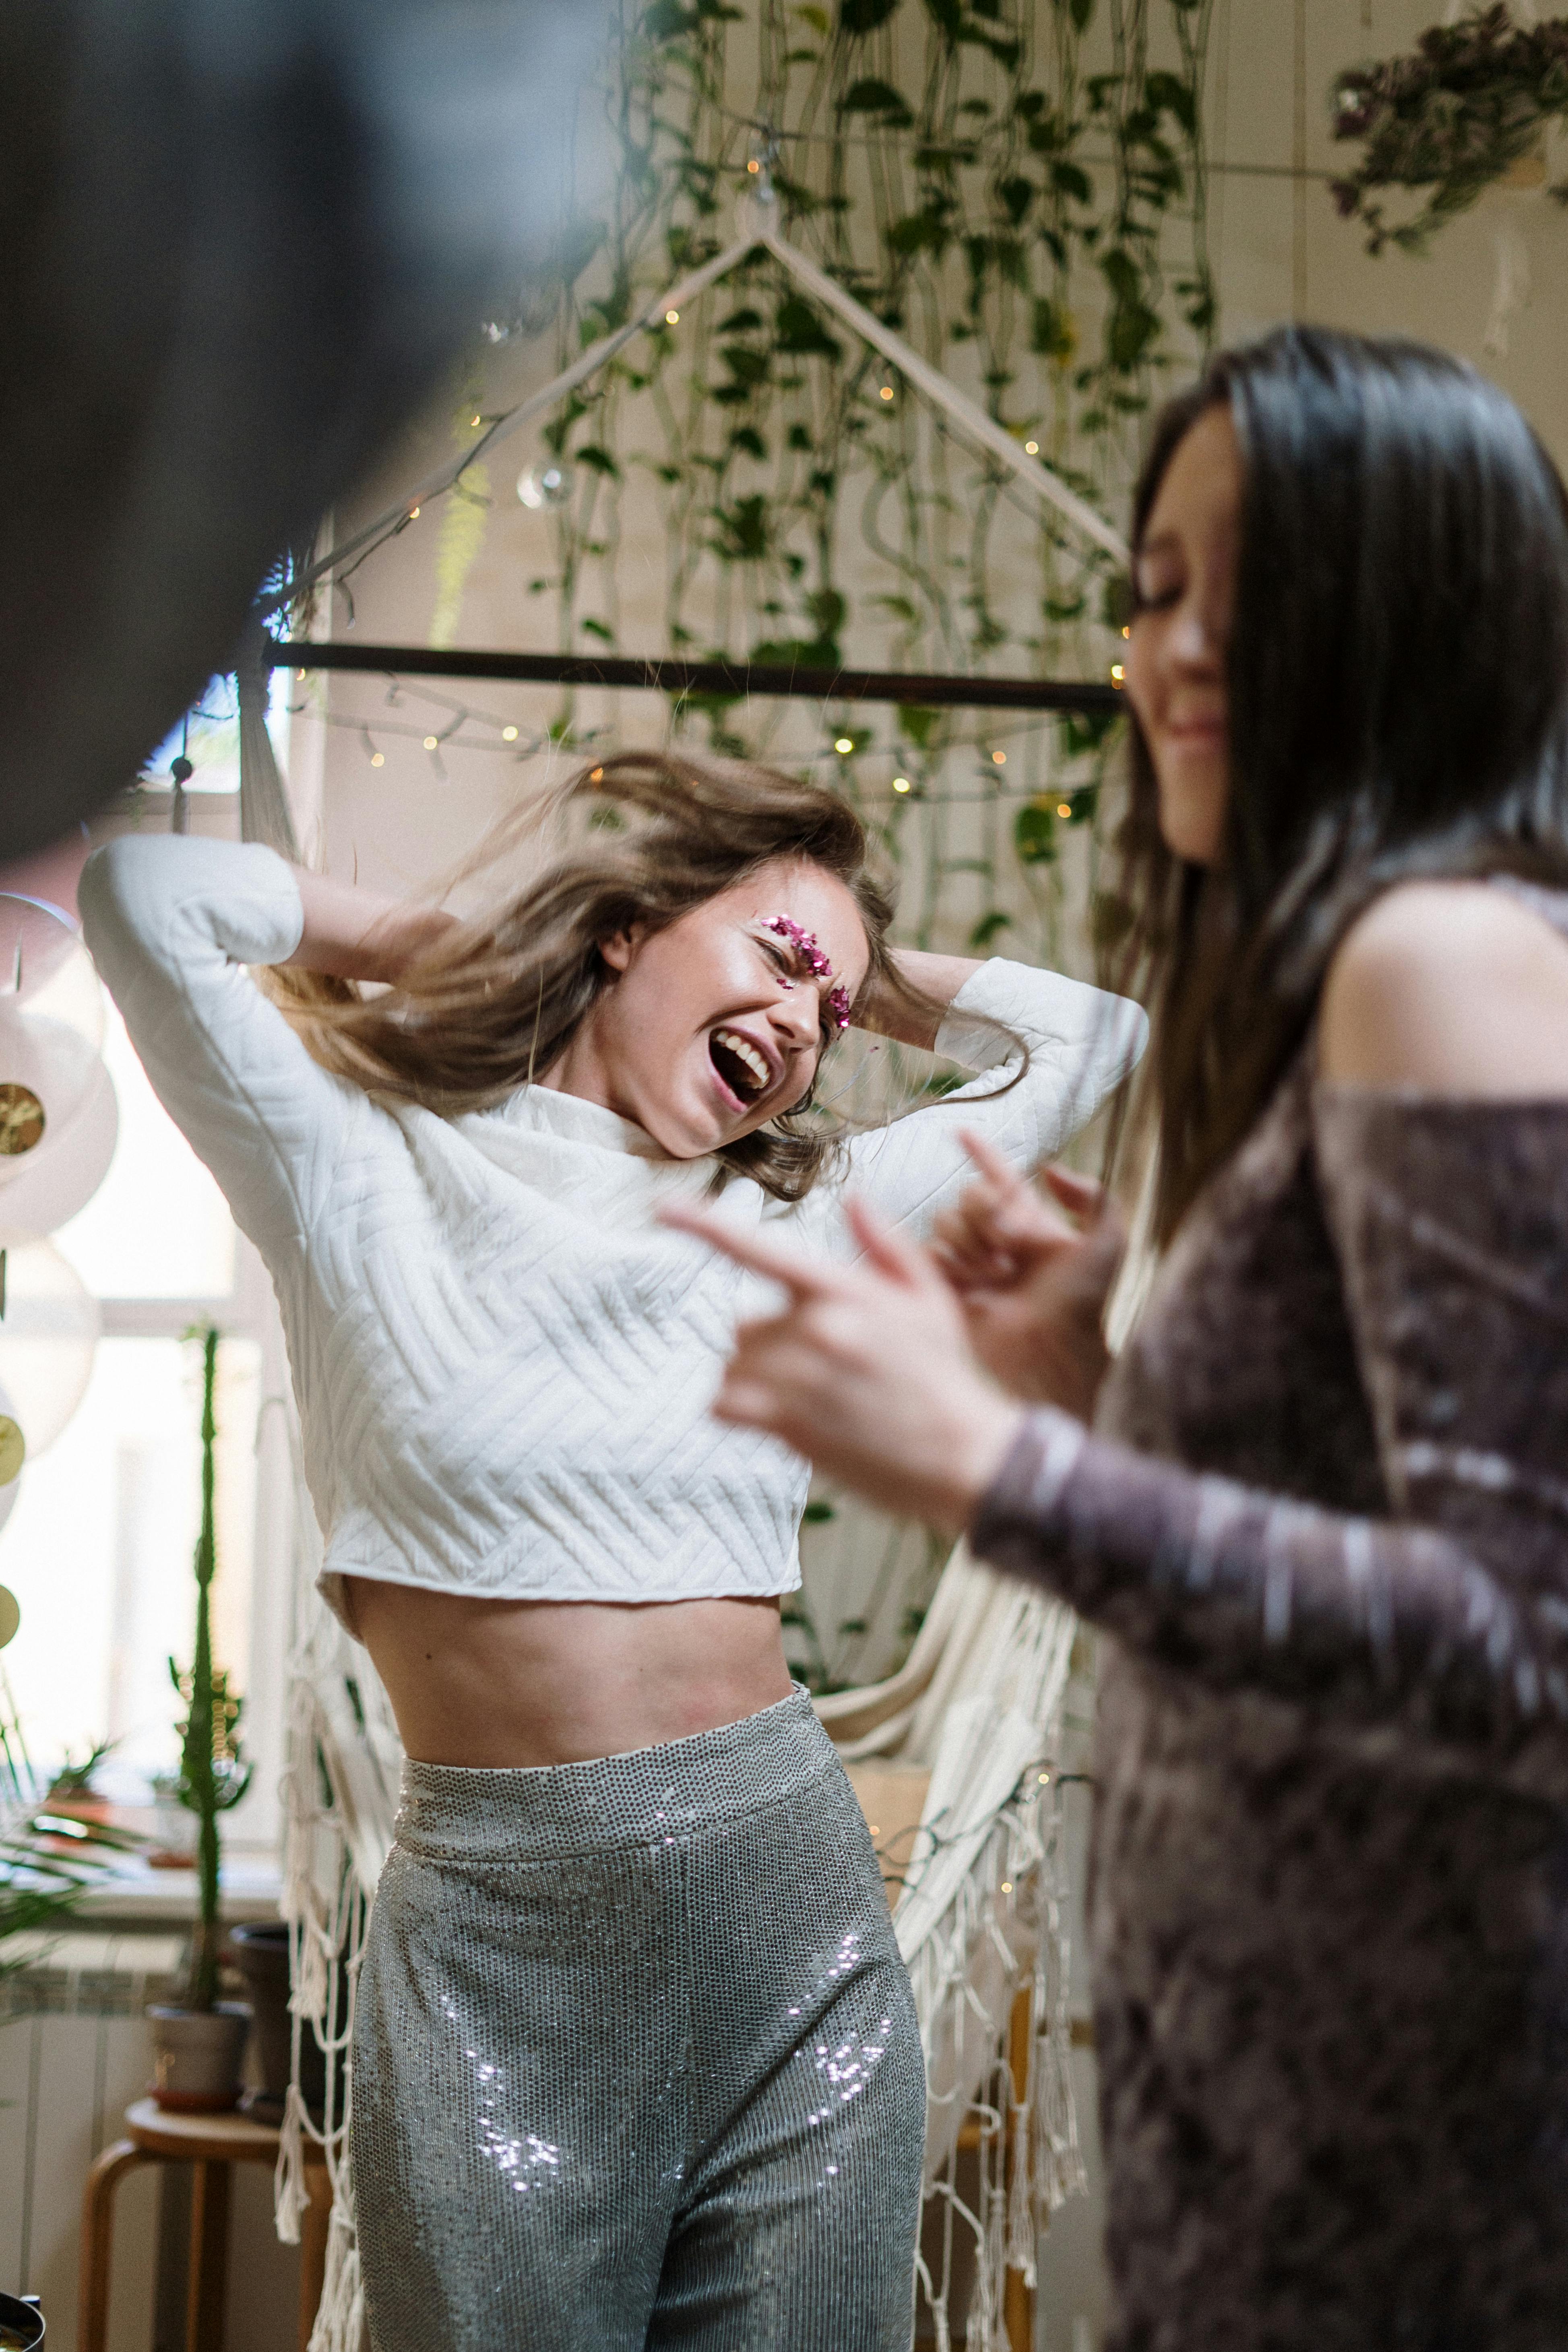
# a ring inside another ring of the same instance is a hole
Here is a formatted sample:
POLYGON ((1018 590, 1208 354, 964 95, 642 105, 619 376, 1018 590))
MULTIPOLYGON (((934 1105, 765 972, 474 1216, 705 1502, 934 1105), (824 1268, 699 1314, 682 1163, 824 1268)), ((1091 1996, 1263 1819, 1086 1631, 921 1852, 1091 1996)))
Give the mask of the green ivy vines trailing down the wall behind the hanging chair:
MULTIPOLYGON (((731 242, 736 198, 769 188, 797 245, 1119 515, 1150 402, 1215 329, 1211 12, 623 0, 614 172, 564 273, 557 362, 731 242)), ((541 459, 569 496, 529 590, 567 652, 623 644, 635 546, 663 564, 646 652, 1077 677, 1119 654, 1110 557, 1041 517, 762 247, 562 402, 541 459)), ((567 703, 557 734, 574 724, 567 703)), ((686 699, 675 724, 827 762, 907 868, 922 941, 1065 950, 1063 851, 1095 830, 1112 722, 832 708, 806 741, 799 710, 686 699)), ((1093 847, 1067 863, 1077 896, 1093 847)))

